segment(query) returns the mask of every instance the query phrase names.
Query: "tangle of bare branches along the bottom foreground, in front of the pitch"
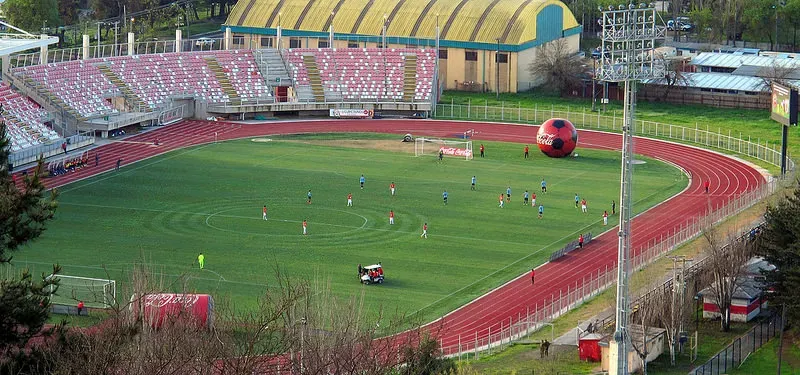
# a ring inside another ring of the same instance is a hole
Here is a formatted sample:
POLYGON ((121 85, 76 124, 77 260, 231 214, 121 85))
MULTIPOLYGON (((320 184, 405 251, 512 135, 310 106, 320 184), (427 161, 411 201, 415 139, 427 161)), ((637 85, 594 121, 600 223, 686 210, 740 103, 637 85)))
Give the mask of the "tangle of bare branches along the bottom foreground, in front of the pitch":
POLYGON ((153 324, 140 313, 142 296, 177 287, 137 267, 132 292, 123 294, 131 301, 99 327, 73 329, 52 343, 41 373, 379 375, 395 368, 407 347, 418 346, 418 330, 405 341, 376 339, 403 319, 370 315, 363 294, 342 298, 329 283, 312 287, 277 267, 271 284, 255 307, 218 301, 213 325, 198 324, 189 311, 153 324))

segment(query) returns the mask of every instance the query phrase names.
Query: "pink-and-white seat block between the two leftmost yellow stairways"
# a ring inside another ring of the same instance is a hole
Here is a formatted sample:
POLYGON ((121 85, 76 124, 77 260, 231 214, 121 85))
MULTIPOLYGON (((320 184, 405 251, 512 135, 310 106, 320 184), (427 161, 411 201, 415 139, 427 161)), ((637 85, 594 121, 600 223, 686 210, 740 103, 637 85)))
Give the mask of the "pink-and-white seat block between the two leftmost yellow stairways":
POLYGON ((114 113, 116 110, 103 97, 116 91, 114 85, 94 64, 93 60, 76 60, 22 67, 14 73, 24 74, 43 85, 80 116, 114 113))

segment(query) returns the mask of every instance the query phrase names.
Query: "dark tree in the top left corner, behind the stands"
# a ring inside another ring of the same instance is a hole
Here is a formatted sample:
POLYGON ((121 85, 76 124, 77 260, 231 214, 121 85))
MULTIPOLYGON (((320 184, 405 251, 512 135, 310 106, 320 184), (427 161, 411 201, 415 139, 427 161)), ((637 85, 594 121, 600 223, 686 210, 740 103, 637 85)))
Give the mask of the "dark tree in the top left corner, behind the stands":
POLYGON ((10 24, 32 34, 61 24, 56 0, 6 0, 2 7, 10 24))

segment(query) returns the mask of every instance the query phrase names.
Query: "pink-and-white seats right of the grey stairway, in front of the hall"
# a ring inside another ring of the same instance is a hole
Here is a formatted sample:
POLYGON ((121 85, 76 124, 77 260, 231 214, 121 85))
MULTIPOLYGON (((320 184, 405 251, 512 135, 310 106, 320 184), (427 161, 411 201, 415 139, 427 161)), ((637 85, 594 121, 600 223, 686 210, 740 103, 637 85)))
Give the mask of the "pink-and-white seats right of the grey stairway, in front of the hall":
POLYGON ((425 49, 292 49, 287 52, 291 75, 298 86, 308 86, 304 55, 316 58, 326 95, 341 93, 345 100, 402 100, 405 56, 416 55, 414 100, 429 100, 436 64, 434 50, 425 49))

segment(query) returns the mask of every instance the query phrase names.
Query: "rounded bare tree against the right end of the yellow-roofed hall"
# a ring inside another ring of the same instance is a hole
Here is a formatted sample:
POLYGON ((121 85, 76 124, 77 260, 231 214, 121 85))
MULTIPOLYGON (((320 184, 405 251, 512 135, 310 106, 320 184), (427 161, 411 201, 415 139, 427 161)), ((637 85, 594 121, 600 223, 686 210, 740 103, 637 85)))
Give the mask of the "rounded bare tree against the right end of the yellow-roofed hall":
POLYGON ((580 86, 581 77, 587 76, 587 64, 570 51, 566 40, 558 39, 539 47, 528 71, 544 87, 564 94, 580 86))

